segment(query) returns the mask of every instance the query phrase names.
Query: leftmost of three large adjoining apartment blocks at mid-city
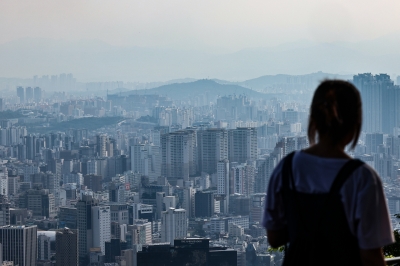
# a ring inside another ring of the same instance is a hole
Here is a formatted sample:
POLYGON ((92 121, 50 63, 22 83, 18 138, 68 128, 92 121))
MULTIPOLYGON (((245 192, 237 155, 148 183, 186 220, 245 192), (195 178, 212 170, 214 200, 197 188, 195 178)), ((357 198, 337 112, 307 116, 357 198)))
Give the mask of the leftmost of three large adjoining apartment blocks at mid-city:
POLYGON ((197 173, 197 137, 194 130, 179 130, 161 136, 161 175, 189 180, 197 173))

